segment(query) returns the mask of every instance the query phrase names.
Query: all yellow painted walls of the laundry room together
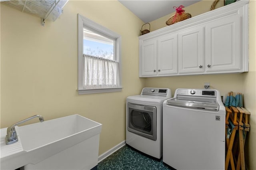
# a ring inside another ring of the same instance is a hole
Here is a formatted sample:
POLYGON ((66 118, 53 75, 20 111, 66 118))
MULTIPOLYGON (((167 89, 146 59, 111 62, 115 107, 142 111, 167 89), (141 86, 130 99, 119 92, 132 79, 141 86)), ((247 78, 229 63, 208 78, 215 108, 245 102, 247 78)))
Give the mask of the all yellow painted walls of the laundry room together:
MULTIPOLYGON (((184 8, 196 16, 210 10, 213 1, 203 0, 184 8)), ((1 128, 41 114, 46 120, 78 113, 103 124, 100 153, 125 140, 125 98, 142 87, 211 88, 221 95, 228 91, 244 94, 251 111, 246 142, 246 159, 256 169, 256 5, 250 1, 249 72, 242 74, 138 78, 138 36, 144 24, 117 1, 69 1, 55 22, 40 25, 41 19, 1 5, 1 128), (122 36, 122 85, 117 93, 78 95, 77 14, 81 14, 122 36)), ((218 2, 216 8, 222 6, 218 2)), ((163 28, 172 14, 151 24, 163 28)), ((33 122, 33 121, 31 121, 33 122)), ((29 123, 31 123, 29 122, 29 123)), ((36 122, 36 121, 34 121, 36 122)))

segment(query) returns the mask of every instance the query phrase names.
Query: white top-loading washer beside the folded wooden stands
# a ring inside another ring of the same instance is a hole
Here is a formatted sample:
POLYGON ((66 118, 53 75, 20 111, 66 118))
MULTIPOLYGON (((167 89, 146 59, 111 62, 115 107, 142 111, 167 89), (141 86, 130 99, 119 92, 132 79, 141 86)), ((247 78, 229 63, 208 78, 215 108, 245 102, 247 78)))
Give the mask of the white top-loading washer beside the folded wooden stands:
POLYGON ((177 170, 224 170, 225 107, 212 89, 176 89, 163 103, 163 162, 177 170))

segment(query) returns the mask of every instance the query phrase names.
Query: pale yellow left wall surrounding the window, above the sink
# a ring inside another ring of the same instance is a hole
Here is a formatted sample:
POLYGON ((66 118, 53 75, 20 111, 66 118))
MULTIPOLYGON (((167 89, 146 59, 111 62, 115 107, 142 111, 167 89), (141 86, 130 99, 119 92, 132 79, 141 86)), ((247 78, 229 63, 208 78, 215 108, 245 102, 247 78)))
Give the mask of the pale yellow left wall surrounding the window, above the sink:
MULTIPOLYGON (((125 99, 144 87, 138 77, 143 22, 118 1, 69 1, 55 22, 1 5, 1 128, 40 114, 80 114, 102 123, 102 154, 125 140, 125 99), (78 16, 122 36, 122 92, 78 95, 78 16)), ((30 123, 38 120, 30 121, 30 123)))

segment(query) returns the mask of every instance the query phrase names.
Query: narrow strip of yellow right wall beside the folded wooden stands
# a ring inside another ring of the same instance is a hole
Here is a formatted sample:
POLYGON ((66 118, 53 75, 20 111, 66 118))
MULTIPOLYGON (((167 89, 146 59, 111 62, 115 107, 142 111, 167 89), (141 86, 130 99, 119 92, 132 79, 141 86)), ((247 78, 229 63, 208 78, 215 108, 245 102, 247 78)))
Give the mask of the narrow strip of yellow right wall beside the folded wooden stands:
POLYGON ((244 75, 245 107, 251 112, 250 132, 246 139, 246 162, 256 169, 256 1, 249 4, 249 72, 244 75))

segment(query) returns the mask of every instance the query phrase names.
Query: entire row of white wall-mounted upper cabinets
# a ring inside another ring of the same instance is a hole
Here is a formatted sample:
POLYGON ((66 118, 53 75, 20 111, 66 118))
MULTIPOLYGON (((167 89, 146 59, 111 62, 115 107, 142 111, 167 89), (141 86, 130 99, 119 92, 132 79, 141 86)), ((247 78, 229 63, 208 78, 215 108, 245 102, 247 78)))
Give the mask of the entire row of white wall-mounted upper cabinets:
POLYGON ((139 37, 140 77, 248 71, 248 0, 139 37))

